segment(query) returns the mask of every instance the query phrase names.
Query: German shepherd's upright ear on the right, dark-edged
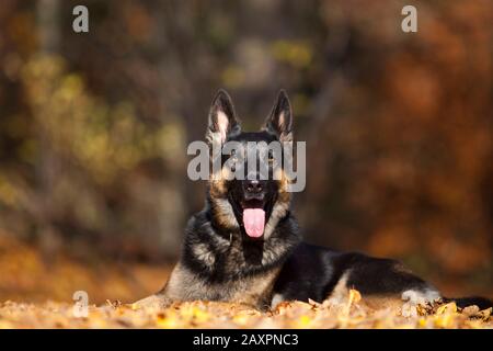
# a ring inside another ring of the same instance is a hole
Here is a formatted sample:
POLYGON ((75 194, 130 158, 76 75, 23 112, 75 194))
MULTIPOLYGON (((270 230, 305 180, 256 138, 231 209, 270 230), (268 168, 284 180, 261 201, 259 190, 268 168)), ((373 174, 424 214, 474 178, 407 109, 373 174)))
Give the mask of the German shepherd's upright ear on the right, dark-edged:
POLYGON ((277 94, 264 128, 276 134, 280 141, 293 141, 291 104, 284 89, 277 94))

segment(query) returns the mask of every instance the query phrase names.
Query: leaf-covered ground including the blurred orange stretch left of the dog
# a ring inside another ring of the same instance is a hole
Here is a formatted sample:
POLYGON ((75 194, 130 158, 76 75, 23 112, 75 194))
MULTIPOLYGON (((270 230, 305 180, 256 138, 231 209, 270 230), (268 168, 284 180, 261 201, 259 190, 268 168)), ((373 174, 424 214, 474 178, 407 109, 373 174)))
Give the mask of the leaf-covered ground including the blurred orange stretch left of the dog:
POLYGON ((267 313, 208 302, 136 308, 127 303, 158 290, 167 268, 47 261, 33 247, 5 238, 0 253, 0 328, 493 328, 491 308, 436 303, 402 317, 399 310, 370 309, 357 291, 337 304, 283 303, 267 313), (88 317, 73 315, 77 290, 89 294, 88 317))

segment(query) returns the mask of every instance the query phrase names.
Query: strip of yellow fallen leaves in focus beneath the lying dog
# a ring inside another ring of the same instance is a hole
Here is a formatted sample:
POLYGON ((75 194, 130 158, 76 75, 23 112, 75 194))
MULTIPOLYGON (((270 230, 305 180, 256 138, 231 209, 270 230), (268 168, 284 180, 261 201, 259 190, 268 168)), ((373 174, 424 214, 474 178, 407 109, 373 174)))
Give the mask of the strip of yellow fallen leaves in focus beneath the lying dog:
POLYGON ((1 328, 493 328, 492 309, 455 303, 417 308, 414 317, 395 310, 365 307, 356 291, 337 305, 328 302, 282 303, 261 313, 226 303, 181 303, 164 310, 137 308, 119 302, 90 306, 87 317, 74 317, 73 305, 5 302, 0 305, 1 328))

